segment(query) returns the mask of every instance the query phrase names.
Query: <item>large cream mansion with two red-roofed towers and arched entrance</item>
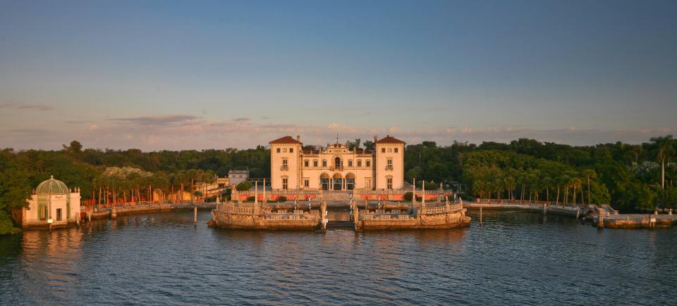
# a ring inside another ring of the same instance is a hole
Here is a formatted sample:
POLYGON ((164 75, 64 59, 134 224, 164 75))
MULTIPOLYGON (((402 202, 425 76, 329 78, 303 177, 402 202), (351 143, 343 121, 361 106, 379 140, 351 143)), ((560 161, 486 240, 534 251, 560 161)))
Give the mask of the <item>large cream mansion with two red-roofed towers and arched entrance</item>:
POLYGON ((374 151, 344 144, 306 147, 300 136, 270 141, 271 189, 403 189, 405 142, 374 136, 374 151))

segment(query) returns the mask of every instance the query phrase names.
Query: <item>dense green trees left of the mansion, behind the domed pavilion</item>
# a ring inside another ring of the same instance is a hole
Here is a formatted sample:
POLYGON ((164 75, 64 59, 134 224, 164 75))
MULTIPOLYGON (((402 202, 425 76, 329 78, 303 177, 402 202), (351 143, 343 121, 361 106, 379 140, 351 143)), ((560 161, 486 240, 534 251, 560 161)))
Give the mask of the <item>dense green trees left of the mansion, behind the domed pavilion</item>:
POLYGON ((250 170, 252 177, 269 177, 270 151, 263 146, 147 153, 137 149, 83 150, 78 141, 60 151, 4 149, 0 151, 0 234, 16 231, 9 209, 26 205, 31 190, 50 175, 71 188, 79 187, 83 203, 110 203, 149 200, 158 189, 164 195, 190 192, 193 184, 208 184, 214 174, 224 177, 229 170, 250 170))

